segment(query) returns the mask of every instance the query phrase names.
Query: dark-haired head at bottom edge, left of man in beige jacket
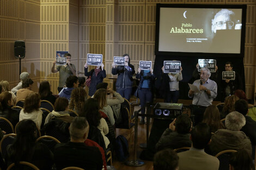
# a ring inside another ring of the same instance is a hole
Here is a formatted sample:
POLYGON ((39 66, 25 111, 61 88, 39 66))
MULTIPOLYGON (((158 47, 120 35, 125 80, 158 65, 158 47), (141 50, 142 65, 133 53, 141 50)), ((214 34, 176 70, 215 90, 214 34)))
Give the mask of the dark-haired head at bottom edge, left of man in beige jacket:
POLYGON ((172 149, 164 149, 154 155, 154 170, 178 170, 179 156, 172 149))

